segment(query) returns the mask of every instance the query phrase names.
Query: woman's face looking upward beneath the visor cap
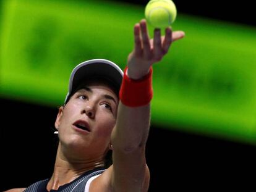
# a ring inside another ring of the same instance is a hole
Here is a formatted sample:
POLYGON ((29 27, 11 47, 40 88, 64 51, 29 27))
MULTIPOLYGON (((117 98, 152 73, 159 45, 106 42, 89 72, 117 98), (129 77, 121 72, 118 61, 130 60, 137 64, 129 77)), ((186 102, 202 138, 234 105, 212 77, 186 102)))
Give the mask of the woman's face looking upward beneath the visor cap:
POLYGON ((118 98, 105 83, 87 83, 59 109, 61 150, 74 158, 103 158, 116 123, 118 98))

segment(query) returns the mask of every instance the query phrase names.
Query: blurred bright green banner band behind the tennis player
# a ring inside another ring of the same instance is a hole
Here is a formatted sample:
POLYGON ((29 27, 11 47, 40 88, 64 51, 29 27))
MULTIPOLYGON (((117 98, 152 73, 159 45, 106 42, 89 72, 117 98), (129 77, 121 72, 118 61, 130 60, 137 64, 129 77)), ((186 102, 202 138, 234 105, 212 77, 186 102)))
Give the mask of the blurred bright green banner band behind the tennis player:
MULTIPOLYGON (((126 2, 2 1, 1 97, 61 105, 80 62, 124 69, 143 17, 126 2)), ((154 67, 152 123, 256 144, 256 28, 182 13, 172 27, 186 38, 154 67)))

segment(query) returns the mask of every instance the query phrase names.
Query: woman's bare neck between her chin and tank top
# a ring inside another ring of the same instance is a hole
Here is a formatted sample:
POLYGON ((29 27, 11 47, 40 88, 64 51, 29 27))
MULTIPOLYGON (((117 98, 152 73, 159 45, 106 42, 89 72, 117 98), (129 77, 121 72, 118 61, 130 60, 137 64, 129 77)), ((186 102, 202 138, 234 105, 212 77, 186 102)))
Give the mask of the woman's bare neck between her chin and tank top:
POLYGON ((54 172, 48 182, 47 190, 58 190, 59 186, 70 183, 83 173, 98 167, 104 167, 104 159, 90 159, 90 161, 67 159, 59 150, 54 165, 54 172))

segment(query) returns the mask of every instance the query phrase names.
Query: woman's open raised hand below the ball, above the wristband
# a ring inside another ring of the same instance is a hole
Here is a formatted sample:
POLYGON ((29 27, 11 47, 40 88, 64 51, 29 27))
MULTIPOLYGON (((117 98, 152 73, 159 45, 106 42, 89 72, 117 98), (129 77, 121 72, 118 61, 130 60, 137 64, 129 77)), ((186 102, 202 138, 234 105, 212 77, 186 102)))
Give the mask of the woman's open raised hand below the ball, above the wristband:
POLYGON ((150 40, 147 30, 147 22, 142 19, 134 25, 134 50, 128 56, 127 75, 134 80, 148 74, 151 65, 161 61, 168 52, 173 41, 183 38, 183 31, 172 31, 166 28, 165 36, 161 36, 160 29, 155 29, 154 38, 150 40))

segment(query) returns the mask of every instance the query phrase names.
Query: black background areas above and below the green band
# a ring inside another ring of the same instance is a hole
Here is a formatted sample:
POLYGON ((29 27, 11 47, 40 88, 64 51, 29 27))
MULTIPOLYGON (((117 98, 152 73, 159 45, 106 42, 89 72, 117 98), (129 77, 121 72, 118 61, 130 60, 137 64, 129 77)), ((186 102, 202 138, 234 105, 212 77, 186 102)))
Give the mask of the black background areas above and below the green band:
MULTIPOLYGON (((148 1, 127 1, 145 6, 148 1)), ((178 12, 256 26, 253 1, 174 1, 178 12)), ((255 36, 256 38, 256 36, 255 36)), ((255 45, 256 46, 256 45, 255 45)), ((0 98, 0 191, 51 175, 55 108, 0 98)), ((150 191, 255 191, 256 146, 152 125, 147 143, 150 191), (247 190, 247 188, 251 190, 247 190)))

